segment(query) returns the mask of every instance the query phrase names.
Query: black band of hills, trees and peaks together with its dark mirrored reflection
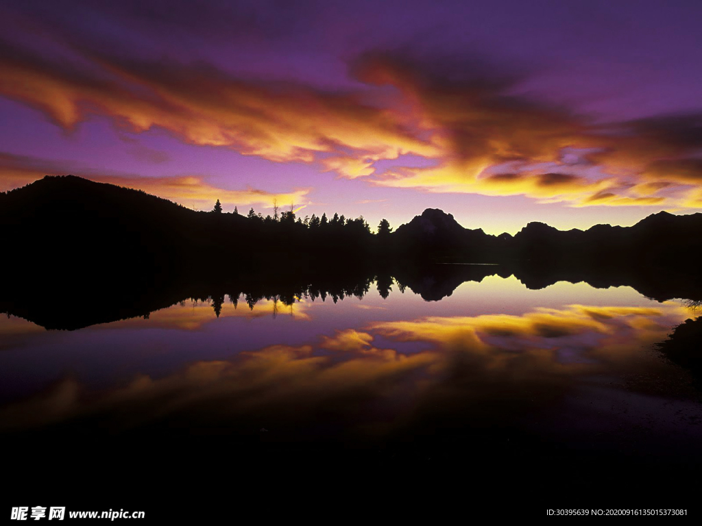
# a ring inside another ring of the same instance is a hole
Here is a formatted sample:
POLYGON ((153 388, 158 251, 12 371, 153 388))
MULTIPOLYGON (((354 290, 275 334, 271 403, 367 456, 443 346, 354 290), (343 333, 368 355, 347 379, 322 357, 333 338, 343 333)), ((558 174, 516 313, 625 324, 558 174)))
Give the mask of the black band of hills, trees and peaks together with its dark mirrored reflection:
POLYGON ((514 275, 528 288, 586 281, 629 285, 660 301, 702 299, 695 265, 702 214, 662 212, 633 227, 585 231, 533 222, 515 236, 492 236, 428 209, 374 235, 362 217, 195 212, 66 176, 0 193, 0 227, 0 311, 47 328, 145 316, 187 297, 234 292, 336 301, 364 294, 373 280, 383 297, 394 280, 431 301, 494 274, 514 275))

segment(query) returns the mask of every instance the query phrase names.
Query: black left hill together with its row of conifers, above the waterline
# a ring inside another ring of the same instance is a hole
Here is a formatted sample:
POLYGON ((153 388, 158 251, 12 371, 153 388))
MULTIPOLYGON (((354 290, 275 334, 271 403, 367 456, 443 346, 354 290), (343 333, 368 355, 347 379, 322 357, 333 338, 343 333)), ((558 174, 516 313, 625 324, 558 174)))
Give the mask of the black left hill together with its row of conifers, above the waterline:
POLYGON ((8 192, 3 201, 0 225, 12 255, 6 263, 22 274, 72 272, 76 265, 82 271, 177 274, 204 264, 253 267, 277 257, 286 261, 275 264, 289 266, 322 248, 355 260, 372 238, 362 218, 312 229, 292 213, 273 222, 255 214, 195 212, 143 191, 73 176, 45 177, 8 192))

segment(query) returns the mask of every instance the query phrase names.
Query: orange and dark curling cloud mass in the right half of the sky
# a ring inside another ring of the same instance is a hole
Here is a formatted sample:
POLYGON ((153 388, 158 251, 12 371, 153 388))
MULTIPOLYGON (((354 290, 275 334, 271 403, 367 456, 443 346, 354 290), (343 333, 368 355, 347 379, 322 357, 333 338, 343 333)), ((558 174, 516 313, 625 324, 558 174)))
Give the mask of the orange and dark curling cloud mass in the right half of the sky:
POLYGON ((423 128, 433 130, 433 141, 442 147, 438 168, 397 168, 373 178, 375 184, 434 192, 522 194, 578 206, 677 205, 677 198, 641 198, 630 193, 632 184, 620 183, 647 178, 680 187, 702 180, 700 116, 596 126, 565 109, 505 95, 515 82, 496 72, 478 68, 460 78, 456 70, 448 65, 437 71, 431 65, 383 53, 359 61, 359 78, 397 86, 413 101, 423 128), (566 148, 590 153, 580 166, 571 166, 562 159, 566 148), (507 177, 484 175, 502 163, 518 163, 521 170, 507 177), (598 164, 602 175, 593 179, 538 173, 531 168, 538 163, 576 172, 583 165, 598 164), (603 193, 604 189, 609 191, 603 193))

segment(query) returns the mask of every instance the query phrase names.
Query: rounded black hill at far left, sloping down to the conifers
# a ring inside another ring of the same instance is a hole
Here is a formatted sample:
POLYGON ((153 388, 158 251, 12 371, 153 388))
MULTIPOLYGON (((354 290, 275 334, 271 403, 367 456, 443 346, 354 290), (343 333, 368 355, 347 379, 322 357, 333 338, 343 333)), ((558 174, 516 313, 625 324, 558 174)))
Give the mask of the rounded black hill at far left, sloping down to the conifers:
POLYGON ((86 266, 162 264, 206 248, 243 217, 194 212, 143 191, 80 177, 44 177, 8 192, 1 224, 13 259, 37 257, 46 267, 79 256, 86 266), (142 257, 150 255, 151 257, 142 257), (87 257, 87 259, 83 259, 87 257))

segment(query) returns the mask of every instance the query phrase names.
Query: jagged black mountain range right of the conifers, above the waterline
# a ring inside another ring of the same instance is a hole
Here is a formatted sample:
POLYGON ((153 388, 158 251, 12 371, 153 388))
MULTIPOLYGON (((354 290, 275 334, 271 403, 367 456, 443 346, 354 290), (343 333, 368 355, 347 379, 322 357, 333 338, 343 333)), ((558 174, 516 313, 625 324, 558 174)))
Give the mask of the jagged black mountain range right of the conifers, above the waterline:
MULTIPOLYGON (((515 236, 492 236, 482 229, 461 227, 453 215, 427 209, 402 225, 393 236, 398 250, 418 252, 430 259, 459 257, 462 262, 495 263, 512 260, 540 262, 641 261, 668 264, 671 259, 702 253, 702 214, 661 212, 633 227, 597 224, 585 231, 562 231, 531 222, 515 236)), ((684 258, 683 258, 684 259, 684 258)))

